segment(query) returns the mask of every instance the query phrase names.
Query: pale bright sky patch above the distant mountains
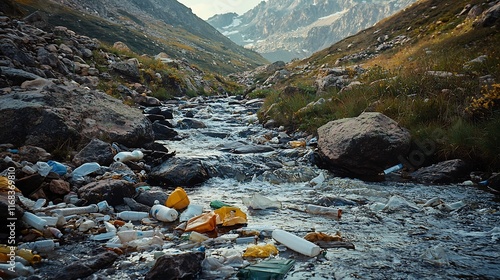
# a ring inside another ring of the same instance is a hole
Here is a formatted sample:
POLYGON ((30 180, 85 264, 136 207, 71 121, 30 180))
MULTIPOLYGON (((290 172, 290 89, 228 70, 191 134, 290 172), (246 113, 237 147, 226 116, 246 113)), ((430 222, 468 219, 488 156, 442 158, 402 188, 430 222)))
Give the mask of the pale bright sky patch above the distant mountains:
POLYGON ((235 12, 239 15, 257 6, 262 0, 177 0, 191 8, 193 13, 204 20, 216 14, 235 12))

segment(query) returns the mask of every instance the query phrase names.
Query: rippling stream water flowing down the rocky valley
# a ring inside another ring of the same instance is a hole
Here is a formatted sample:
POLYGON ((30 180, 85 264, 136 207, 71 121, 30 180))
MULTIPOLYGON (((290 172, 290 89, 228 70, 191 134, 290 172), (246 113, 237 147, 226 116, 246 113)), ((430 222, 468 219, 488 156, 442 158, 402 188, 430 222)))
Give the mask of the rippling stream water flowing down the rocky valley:
MULTIPOLYGON (((310 147, 286 149, 275 144, 274 151, 243 155, 221 151, 237 141, 260 144, 277 134, 255 122, 258 103, 248 107, 233 101, 198 99, 192 109, 207 128, 183 130, 189 137, 166 144, 179 157, 226 166, 226 174, 187 190, 192 203, 222 200, 246 210, 241 198, 260 193, 281 201, 283 207, 248 211, 248 227, 281 228, 299 236, 312 230, 338 231, 355 245, 354 250, 326 249, 318 258, 280 247, 280 255, 297 260, 286 279, 500 278, 500 212, 494 195, 466 185, 335 178, 311 164, 310 147), (214 131, 225 137, 208 136, 214 131), (309 184, 322 172, 326 180, 321 185, 309 184), (340 205, 332 207, 343 210, 340 221, 303 211, 307 203, 323 197, 337 198, 340 205)), ((182 118, 181 113, 176 118, 182 118)))

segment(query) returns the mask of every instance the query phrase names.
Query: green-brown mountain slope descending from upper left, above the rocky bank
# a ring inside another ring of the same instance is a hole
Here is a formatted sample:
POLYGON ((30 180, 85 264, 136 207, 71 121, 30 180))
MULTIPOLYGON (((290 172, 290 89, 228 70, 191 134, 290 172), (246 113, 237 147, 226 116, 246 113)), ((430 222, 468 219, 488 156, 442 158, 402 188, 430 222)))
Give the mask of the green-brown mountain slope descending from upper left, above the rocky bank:
POLYGON ((164 52, 217 73, 239 72, 266 63, 175 0, 8 1, 25 15, 40 11, 52 26, 67 26, 110 45, 122 41, 137 53, 164 52))

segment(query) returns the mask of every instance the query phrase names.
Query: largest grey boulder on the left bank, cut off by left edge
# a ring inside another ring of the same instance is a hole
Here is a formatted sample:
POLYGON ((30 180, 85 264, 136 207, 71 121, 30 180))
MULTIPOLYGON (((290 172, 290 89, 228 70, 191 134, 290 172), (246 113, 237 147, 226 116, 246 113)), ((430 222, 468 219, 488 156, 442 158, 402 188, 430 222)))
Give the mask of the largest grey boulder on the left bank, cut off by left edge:
POLYGON ((130 147, 153 141, 151 122, 137 109, 95 90, 49 85, 0 96, 0 143, 51 152, 100 138, 130 147))

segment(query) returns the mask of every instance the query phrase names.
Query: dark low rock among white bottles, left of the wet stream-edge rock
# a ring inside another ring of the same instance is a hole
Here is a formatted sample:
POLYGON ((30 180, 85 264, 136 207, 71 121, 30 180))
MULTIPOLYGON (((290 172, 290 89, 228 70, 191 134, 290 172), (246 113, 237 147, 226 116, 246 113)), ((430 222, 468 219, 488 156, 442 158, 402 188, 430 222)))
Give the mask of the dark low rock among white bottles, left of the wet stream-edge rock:
POLYGON ((136 190, 134 183, 129 181, 104 179, 81 187, 78 195, 89 204, 106 200, 109 205, 116 206, 124 203, 124 197, 134 197, 136 190))

